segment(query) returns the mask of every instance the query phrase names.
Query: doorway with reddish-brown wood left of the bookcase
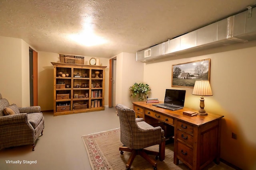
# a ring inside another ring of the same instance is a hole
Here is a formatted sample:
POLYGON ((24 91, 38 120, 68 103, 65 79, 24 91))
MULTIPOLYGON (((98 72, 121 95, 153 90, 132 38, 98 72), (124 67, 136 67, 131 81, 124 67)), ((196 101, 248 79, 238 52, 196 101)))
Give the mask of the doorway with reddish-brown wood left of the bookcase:
POLYGON ((38 106, 37 52, 29 48, 30 106, 38 106))

